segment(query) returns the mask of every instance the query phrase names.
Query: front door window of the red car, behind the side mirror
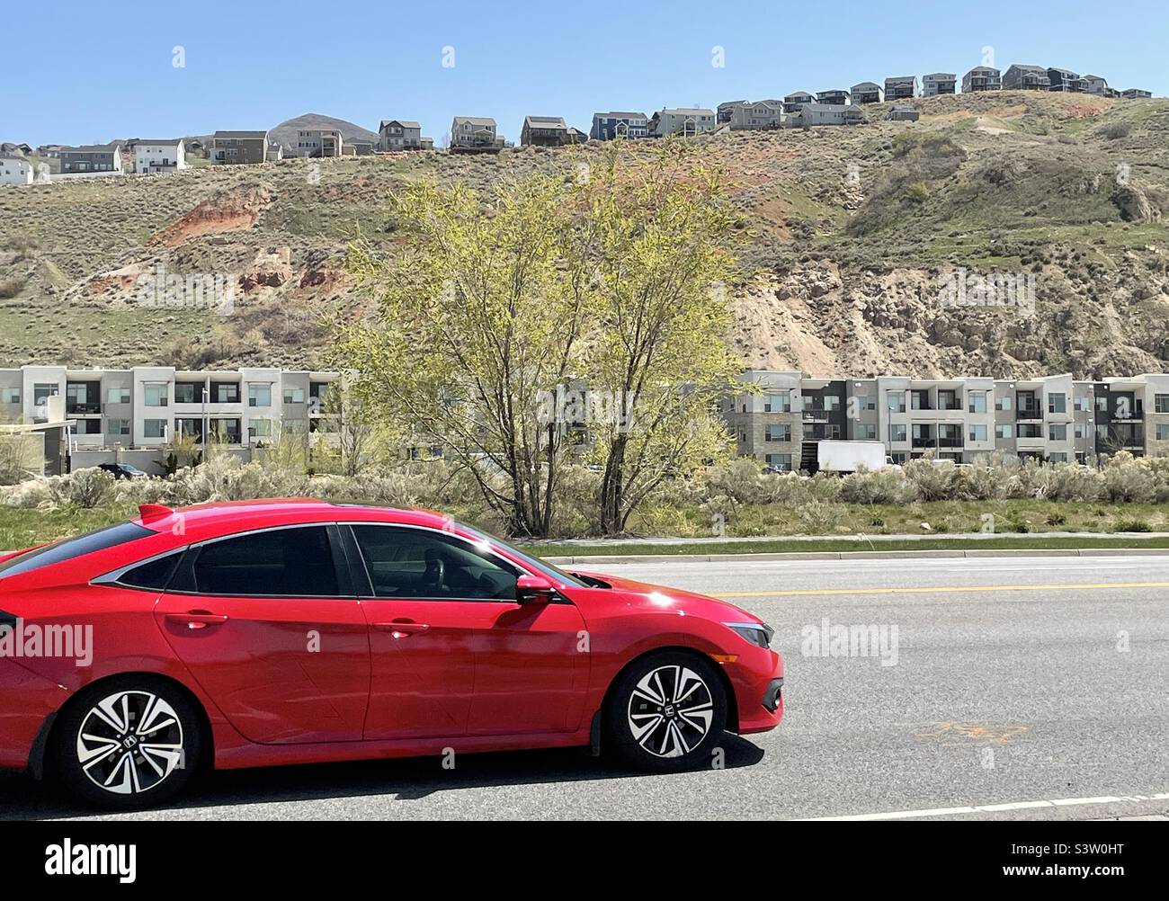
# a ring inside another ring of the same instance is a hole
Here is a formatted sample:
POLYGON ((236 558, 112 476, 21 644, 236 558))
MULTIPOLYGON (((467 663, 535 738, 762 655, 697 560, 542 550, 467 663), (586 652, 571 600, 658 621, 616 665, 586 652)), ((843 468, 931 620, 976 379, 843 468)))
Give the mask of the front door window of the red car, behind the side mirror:
POLYGON ((454 535, 353 526, 376 597, 514 601, 517 567, 454 535))

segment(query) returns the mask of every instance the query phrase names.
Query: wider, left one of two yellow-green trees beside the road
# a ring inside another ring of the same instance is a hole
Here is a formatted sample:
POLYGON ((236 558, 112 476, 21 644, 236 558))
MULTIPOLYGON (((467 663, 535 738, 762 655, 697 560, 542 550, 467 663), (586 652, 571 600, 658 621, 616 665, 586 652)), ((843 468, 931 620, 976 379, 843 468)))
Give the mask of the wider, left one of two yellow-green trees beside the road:
POLYGON ((413 186, 390 199, 410 243, 383 256, 361 242, 348 259, 378 299, 333 353, 359 373, 354 394, 394 431, 441 445, 516 534, 552 522, 560 436, 535 409, 579 363, 586 323, 570 200, 551 175, 500 182, 487 200, 413 186))

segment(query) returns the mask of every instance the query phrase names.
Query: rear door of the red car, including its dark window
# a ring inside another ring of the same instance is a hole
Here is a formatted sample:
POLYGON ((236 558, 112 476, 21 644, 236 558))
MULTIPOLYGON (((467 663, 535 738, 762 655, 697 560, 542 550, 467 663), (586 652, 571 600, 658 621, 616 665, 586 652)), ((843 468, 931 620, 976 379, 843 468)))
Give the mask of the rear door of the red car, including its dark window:
POLYGON ((154 615, 175 654, 249 741, 361 739, 368 629, 336 526, 193 546, 154 615))

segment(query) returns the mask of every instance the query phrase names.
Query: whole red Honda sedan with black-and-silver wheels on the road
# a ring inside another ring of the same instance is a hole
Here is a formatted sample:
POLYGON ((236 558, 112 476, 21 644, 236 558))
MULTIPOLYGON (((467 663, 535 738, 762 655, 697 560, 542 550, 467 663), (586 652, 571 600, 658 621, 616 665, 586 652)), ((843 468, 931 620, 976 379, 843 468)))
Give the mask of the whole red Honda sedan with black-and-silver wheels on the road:
POLYGON ((201 767, 582 746, 678 770, 779 725, 770 639, 428 511, 144 506, 0 559, 0 768, 117 809, 201 767))

